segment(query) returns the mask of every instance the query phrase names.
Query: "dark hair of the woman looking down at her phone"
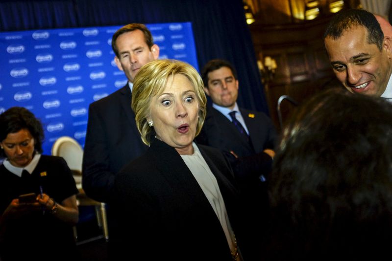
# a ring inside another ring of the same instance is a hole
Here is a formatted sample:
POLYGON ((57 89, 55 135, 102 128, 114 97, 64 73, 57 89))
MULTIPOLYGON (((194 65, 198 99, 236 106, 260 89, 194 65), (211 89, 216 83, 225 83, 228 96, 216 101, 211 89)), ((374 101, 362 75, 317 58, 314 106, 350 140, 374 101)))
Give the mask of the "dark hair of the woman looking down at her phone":
MULTIPOLYGON (((0 141, 3 141, 9 133, 22 129, 27 129, 31 133, 35 151, 42 153, 44 130, 41 122, 32 112, 23 107, 12 107, 0 114, 0 141)), ((5 157, 3 150, 0 150, 0 157, 5 157)))

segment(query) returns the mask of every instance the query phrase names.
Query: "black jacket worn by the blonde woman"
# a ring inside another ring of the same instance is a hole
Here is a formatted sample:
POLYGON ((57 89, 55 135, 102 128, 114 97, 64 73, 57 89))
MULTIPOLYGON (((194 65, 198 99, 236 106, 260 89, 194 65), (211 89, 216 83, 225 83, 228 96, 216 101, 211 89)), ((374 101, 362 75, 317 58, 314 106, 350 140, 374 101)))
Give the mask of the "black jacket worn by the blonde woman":
MULTIPOLYGON (((198 146, 218 181, 238 245, 246 260, 244 231, 233 173, 217 149, 198 146)), ((113 260, 231 261, 221 223, 180 154, 152 138, 148 151, 116 176, 111 233, 113 260)), ((250 259, 251 260, 251 259, 250 259)))

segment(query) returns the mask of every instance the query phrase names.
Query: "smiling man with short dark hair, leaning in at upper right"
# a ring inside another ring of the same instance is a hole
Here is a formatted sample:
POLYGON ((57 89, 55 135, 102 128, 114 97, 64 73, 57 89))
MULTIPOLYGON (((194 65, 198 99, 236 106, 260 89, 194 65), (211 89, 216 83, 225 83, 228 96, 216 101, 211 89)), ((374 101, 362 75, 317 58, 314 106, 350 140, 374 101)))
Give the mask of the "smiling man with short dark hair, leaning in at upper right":
POLYGON ((337 14, 324 34, 336 77, 350 92, 392 100, 392 40, 373 14, 347 10, 337 14))

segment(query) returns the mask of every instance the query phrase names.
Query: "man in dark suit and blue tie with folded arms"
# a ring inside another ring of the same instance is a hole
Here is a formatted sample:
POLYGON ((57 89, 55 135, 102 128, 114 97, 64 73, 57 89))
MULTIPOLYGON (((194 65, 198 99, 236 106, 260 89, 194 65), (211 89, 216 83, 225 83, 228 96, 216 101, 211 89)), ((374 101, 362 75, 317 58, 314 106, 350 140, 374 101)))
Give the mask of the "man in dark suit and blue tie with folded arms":
POLYGON ((201 77, 213 104, 207 108, 197 141, 230 152, 237 173, 264 179, 270 172, 276 139, 270 118, 262 112, 238 107, 239 83, 229 62, 211 60, 202 69, 201 77))

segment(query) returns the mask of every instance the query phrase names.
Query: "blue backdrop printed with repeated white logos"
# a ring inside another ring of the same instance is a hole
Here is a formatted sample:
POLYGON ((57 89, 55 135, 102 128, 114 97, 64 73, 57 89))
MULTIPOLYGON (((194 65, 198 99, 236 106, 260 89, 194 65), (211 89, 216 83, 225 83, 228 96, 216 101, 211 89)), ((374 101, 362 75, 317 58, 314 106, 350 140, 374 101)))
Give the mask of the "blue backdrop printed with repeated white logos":
MULTIPOLYGON (((146 25, 160 47, 159 59, 198 69, 190 22, 146 25)), ((0 33, 0 113, 13 106, 31 110, 44 126, 45 154, 64 135, 83 146, 89 104, 127 82, 111 48, 120 27, 0 33)))

